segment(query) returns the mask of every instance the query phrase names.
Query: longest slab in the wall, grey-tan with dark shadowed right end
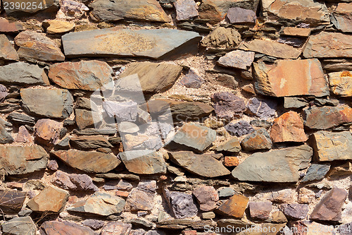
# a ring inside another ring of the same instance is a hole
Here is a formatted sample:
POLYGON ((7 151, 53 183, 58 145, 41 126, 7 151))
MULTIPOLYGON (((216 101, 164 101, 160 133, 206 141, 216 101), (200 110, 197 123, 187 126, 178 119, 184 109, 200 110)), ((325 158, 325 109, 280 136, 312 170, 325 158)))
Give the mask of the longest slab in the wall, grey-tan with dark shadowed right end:
POLYGON ((63 49, 68 57, 142 56, 160 59, 177 52, 197 49, 201 36, 196 32, 158 29, 125 30, 108 28, 63 35, 63 49))

